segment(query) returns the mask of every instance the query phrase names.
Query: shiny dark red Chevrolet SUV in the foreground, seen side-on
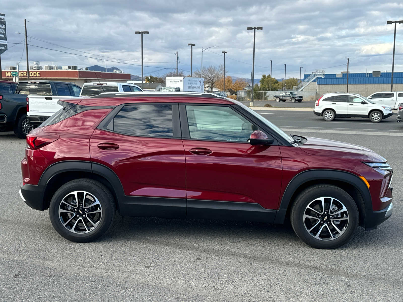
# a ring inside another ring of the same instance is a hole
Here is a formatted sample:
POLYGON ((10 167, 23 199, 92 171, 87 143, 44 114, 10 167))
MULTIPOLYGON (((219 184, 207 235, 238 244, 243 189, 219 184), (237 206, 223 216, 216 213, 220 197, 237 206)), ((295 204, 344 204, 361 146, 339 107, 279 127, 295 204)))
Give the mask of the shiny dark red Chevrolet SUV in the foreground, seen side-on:
POLYGON ((283 223, 315 248, 392 214, 392 169, 356 145, 288 135, 206 93, 102 93, 27 136, 21 198, 75 242, 123 216, 283 223))

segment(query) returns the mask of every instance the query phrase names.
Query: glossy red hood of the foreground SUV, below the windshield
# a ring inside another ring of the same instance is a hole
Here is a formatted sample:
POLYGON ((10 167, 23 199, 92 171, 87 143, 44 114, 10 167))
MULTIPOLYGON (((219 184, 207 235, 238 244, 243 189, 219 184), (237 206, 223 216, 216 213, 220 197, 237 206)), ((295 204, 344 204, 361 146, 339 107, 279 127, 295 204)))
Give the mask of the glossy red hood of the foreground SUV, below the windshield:
POLYGON ((318 139, 316 137, 306 137, 306 139, 307 142, 301 145, 300 148, 309 154, 329 157, 356 158, 372 162, 386 161, 382 156, 366 147, 332 141, 330 139, 318 139))

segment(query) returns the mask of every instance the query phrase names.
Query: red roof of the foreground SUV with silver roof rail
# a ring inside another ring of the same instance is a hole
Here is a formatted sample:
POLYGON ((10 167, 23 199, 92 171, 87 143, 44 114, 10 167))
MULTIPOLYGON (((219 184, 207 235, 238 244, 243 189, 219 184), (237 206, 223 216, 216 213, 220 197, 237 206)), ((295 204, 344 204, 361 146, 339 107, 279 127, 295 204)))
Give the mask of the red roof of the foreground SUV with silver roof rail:
MULTIPOLYGON (((68 100, 67 100, 68 101, 68 100)), ((220 97, 213 93, 197 92, 116 92, 101 93, 93 97, 85 97, 80 105, 84 106, 118 106, 125 103, 206 103, 242 105, 228 97, 220 97)))

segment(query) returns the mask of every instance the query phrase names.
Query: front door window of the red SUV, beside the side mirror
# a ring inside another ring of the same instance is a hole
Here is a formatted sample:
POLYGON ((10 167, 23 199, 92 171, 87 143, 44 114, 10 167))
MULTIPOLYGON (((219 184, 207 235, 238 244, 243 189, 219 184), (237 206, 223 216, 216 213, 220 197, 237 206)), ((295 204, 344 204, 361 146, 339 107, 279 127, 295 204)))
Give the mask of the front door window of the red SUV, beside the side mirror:
POLYGON ((258 130, 227 106, 186 105, 191 139, 246 142, 258 130))

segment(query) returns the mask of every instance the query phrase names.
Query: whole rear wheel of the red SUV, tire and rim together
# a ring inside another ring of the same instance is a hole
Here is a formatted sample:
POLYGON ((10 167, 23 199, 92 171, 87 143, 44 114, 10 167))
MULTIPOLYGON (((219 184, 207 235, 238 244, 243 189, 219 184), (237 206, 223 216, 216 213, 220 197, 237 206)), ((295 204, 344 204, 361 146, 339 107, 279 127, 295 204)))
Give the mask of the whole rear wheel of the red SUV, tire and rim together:
POLYGON ((114 199, 100 182, 77 179, 61 186, 50 201, 54 229, 74 242, 89 242, 102 236, 115 213, 114 199))

